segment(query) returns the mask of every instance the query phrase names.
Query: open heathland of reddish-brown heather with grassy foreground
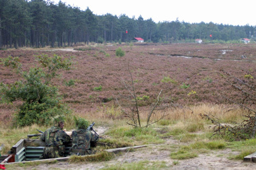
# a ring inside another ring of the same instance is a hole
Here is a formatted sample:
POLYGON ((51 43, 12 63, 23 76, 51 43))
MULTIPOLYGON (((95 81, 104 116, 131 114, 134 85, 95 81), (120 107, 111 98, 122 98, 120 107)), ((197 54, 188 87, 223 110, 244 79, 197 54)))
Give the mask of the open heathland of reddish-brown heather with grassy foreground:
MULTIPOLYGON (((24 70, 28 70, 36 66, 35 55, 43 53, 49 57, 73 57, 72 69, 61 72, 53 84, 58 87, 61 101, 72 110, 72 115, 95 122, 95 129, 105 129, 102 143, 111 143, 113 147, 156 145, 151 146, 150 153, 145 149, 132 150, 131 155, 111 155, 109 162, 97 163, 100 166, 92 169, 186 169, 190 167, 188 162, 193 161, 195 169, 218 166, 226 169, 227 164, 231 169, 234 166, 241 169, 253 167, 252 163, 241 160, 244 155, 256 152, 255 139, 230 140, 223 136, 212 136, 214 129, 211 127, 214 124, 202 118, 200 113, 211 115, 222 125, 234 126, 246 120, 244 114, 248 113, 248 108, 244 110, 241 105, 255 109, 255 103, 252 103, 255 101, 255 44, 127 43, 83 45, 74 49, 20 48, 0 50, 0 57, 19 57, 24 70), (122 48, 124 56, 116 56, 118 48, 122 48), (251 85, 252 90, 248 93, 252 93, 252 96, 242 95, 245 90, 242 89, 242 82, 251 85), (126 111, 134 109, 134 98, 130 94, 133 91, 129 91, 129 87, 134 87, 142 126, 147 124, 148 112, 157 99, 158 106, 165 108, 156 109, 152 121, 163 115, 164 118, 141 130, 126 124, 132 117, 126 111), (136 156, 137 153, 144 153, 147 157, 141 159, 143 154, 140 157, 136 156), (153 159, 155 153, 156 157, 161 153, 166 157, 153 159), (209 155, 214 156, 207 157, 209 155), (133 160, 131 157, 136 158, 133 160), (215 163, 197 164, 196 161, 200 162, 197 159, 202 157, 208 158, 207 162, 214 159, 215 163), (113 160, 119 162, 118 166, 113 165, 113 160), (223 164, 216 164, 221 161, 223 164)), ((5 84, 13 83, 20 77, 10 68, 1 66, 0 80, 5 84)), ((47 128, 35 124, 13 129, 12 120, 20 104, 20 101, 0 103, 0 145, 5 145, 3 152, 7 152, 19 138, 35 133, 35 129, 47 128)), ((74 129, 73 122, 66 125, 68 130, 74 129)), ((76 164, 74 162, 72 164, 76 164)), ((42 169, 40 165, 36 168, 42 169)))

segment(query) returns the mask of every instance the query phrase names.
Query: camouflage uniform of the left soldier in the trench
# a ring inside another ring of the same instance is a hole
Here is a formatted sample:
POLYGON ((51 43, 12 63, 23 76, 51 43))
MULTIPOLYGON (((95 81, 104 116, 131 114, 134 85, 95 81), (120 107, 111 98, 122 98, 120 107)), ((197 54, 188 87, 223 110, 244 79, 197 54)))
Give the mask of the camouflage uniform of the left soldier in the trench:
POLYGON ((41 140, 45 141, 44 158, 51 159, 63 157, 65 153, 65 143, 70 141, 70 137, 60 127, 51 127, 47 129, 41 136, 41 140))

